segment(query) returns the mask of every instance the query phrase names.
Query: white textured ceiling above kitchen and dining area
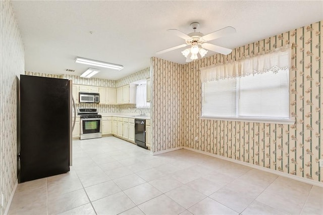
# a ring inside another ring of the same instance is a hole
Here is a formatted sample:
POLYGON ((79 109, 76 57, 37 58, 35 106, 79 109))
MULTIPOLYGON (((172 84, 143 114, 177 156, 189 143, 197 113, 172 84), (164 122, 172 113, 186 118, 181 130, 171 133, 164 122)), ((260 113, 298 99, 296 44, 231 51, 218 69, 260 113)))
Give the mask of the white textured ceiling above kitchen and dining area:
POLYGON ((199 22, 198 31, 207 34, 232 26, 237 33, 210 43, 236 48, 323 20, 323 1, 13 1, 12 6, 26 71, 80 75, 90 67, 75 63, 83 57, 123 65, 94 76, 111 80, 149 67, 152 56, 185 64, 184 48, 155 54, 184 43, 170 28, 190 33, 190 23, 199 22))

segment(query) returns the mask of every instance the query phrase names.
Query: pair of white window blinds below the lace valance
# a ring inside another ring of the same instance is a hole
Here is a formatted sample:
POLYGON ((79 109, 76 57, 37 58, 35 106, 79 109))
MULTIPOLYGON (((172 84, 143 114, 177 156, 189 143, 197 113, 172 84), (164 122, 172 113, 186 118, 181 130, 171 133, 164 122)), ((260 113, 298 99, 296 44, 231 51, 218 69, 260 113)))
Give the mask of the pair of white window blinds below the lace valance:
POLYGON ((289 119, 289 71, 202 84, 202 117, 289 119))

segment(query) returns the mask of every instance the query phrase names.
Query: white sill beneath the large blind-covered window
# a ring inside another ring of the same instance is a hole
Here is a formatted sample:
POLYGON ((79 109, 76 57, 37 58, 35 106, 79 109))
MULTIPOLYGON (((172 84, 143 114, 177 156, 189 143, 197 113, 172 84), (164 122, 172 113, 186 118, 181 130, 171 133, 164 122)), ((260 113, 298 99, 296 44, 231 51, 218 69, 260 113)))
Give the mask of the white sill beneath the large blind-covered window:
POLYGON ((295 118, 292 117, 288 120, 280 119, 254 119, 254 118, 226 118, 226 117, 208 117, 201 116, 201 120, 220 120, 220 121, 234 121, 234 122, 250 122, 250 123, 270 123, 270 124, 283 124, 283 125, 294 125, 295 118))

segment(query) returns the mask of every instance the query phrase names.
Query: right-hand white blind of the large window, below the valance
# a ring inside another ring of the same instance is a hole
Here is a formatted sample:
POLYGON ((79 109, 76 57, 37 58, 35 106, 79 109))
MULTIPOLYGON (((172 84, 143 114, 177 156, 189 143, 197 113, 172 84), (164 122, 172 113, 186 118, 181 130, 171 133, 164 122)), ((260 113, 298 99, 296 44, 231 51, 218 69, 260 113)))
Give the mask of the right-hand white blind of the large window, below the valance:
POLYGON ((289 119, 289 71, 238 79, 238 117, 289 119))

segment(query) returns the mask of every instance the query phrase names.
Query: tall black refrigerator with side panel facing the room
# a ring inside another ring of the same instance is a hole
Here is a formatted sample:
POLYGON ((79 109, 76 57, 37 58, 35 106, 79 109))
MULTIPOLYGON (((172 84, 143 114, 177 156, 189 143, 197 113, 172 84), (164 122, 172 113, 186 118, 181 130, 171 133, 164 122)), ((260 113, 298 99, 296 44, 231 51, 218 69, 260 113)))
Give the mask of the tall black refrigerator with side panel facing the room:
POLYGON ((70 171, 72 81, 21 75, 19 103, 18 182, 70 171))

